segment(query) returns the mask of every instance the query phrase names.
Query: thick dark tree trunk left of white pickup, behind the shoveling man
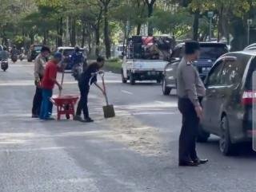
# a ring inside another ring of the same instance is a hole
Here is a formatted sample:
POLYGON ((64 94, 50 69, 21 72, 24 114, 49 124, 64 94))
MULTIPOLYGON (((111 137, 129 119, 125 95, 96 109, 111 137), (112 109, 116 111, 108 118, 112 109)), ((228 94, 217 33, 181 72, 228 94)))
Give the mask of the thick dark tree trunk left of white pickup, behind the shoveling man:
POLYGON ((111 57, 111 45, 110 45, 110 26, 108 18, 108 7, 104 8, 104 40, 106 47, 106 58, 111 57))

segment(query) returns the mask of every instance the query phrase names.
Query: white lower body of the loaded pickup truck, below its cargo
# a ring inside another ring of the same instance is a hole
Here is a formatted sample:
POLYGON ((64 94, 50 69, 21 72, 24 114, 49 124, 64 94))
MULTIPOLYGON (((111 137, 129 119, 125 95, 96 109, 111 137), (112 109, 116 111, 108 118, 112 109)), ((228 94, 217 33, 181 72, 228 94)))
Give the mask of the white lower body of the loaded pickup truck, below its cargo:
POLYGON ((162 73, 167 61, 162 60, 135 60, 124 57, 122 63, 122 82, 130 80, 130 84, 135 84, 136 80, 162 80, 162 73))

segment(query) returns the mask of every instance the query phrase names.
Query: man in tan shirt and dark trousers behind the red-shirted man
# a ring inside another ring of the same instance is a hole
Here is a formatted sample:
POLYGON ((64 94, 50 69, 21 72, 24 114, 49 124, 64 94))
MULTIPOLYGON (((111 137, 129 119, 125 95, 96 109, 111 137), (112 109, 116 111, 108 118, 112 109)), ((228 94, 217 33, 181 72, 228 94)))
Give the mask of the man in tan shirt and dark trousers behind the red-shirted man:
POLYGON ((41 82, 44 75, 46 58, 50 55, 50 49, 46 46, 43 46, 41 53, 36 57, 34 61, 34 84, 36 86, 33 107, 32 107, 32 118, 38 118, 41 104, 42 104, 42 88, 41 82))

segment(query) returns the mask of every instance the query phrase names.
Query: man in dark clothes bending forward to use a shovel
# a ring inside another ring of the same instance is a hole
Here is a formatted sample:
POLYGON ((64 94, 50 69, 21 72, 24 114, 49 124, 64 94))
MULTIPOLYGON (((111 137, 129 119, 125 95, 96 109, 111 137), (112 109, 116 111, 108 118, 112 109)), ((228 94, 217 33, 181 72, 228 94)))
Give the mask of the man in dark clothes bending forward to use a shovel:
POLYGON ((76 116, 74 116, 74 120, 78 120, 81 122, 90 123, 94 120, 90 119, 89 110, 88 110, 88 94, 90 91, 90 85, 95 84, 103 94, 105 94, 104 90, 97 84, 97 75, 94 75, 95 72, 98 72, 102 69, 104 65, 105 59, 103 57, 98 57, 97 62, 90 64, 87 69, 82 72, 81 76, 78 80, 78 87, 80 90, 80 100, 78 103, 78 108, 76 112, 76 116), (81 114, 84 114, 84 120, 82 120, 81 114))

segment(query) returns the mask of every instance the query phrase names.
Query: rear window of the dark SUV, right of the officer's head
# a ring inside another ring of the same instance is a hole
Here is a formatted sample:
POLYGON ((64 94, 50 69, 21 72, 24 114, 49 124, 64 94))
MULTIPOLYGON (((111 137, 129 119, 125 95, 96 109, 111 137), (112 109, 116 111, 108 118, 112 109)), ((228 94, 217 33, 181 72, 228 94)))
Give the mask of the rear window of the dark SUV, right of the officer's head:
POLYGON ((217 60, 223 54, 227 53, 228 50, 226 45, 200 45, 202 59, 214 59, 217 60))

